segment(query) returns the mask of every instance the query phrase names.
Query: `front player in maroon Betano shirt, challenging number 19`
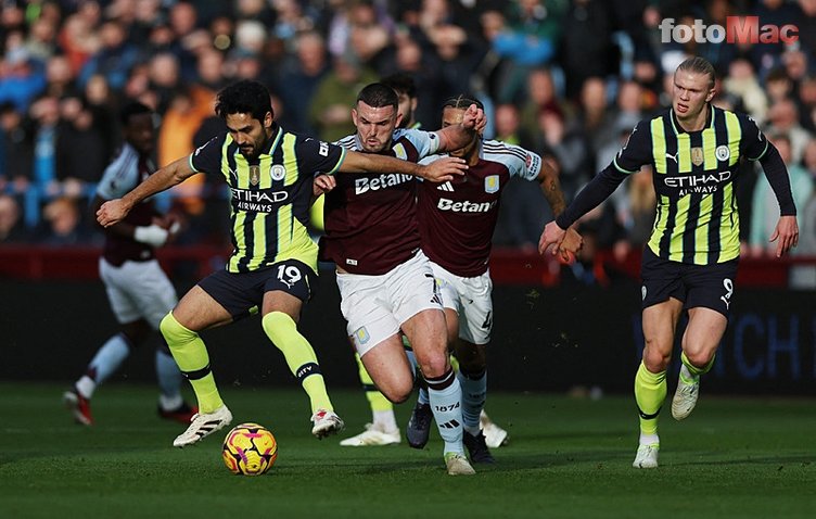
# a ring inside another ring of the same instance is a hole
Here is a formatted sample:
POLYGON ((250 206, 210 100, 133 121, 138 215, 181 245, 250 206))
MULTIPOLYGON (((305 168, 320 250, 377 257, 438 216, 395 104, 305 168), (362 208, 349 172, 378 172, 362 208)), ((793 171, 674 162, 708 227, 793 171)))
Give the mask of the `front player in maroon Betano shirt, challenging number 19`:
MULTIPOLYGON (((397 129, 397 94, 381 83, 359 92, 352 118, 357 132, 340 145, 408 162, 461 148, 485 123, 484 112, 473 105, 461 124, 439 131, 397 129)), ((316 183, 326 180, 336 187, 329 186, 334 189, 326 198, 320 253, 336 265, 341 311, 366 370, 391 402, 405 402, 413 389, 413 369, 401 330, 429 387, 448 473, 474 473, 462 446, 461 389, 448 362, 442 301, 420 250, 417 182, 394 173, 318 177, 316 183)))

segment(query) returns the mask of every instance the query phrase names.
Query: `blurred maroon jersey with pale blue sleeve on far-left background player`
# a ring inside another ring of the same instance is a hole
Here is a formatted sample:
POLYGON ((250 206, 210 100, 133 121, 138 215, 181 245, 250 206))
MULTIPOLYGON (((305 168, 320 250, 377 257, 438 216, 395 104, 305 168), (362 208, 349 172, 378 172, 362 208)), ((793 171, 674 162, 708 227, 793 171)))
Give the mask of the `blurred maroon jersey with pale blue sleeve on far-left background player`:
MULTIPOLYGON (((102 200, 119 199, 148 178, 152 170, 150 162, 140 157, 136 149, 126 143, 119 155, 105 168, 97 187, 97 194, 102 200)), ((123 221, 143 227, 151 225, 153 217, 157 215, 152 199, 148 199, 136 204, 123 221)), ((144 262, 154 257, 153 246, 114 232, 105 232, 102 255, 107 263, 115 266, 127 261, 144 262)))

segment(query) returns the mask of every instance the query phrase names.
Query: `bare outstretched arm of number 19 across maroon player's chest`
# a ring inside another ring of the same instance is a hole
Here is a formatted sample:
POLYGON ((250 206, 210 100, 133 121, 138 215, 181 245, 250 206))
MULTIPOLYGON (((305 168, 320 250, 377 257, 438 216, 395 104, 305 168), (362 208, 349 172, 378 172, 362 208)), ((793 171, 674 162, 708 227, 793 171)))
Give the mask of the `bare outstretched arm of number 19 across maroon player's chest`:
POLYGON ((457 157, 441 159, 431 165, 423 166, 393 156, 348 151, 339 170, 343 173, 397 173, 413 175, 434 182, 445 182, 464 175, 466 169, 468 165, 462 159, 457 157))

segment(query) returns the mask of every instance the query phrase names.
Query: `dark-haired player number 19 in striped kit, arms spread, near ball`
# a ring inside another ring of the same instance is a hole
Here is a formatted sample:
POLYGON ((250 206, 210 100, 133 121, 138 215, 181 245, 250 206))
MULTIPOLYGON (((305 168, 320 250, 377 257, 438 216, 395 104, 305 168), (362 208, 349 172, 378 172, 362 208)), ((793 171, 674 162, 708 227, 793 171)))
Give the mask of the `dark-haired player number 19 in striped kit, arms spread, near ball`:
POLYGON ((231 191, 232 255, 225 270, 190 289, 161 324, 170 352, 199 401, 199 413, 173 444, 183 447, 196 443, 232 420, 199 332, 258 309, 264 332, 281 350, 309 396, 311 433, 323 438, 341 430, 343 421, 329 400, 317 356, 297 330, 301 308, 311 295, 317 270, 317 245, 306 229, 314 175, 397 172, 444 180, 463 166, 459 161, 438 168, 422 167, 347 152, 284 131, 273 122, 269 91, 257 81, 226 87, 218 93, 215 110, 226 123, 225 135, 161 168, 123 198, 105 202, 97 219, 109 227, 144 198, 195 173, 222 175, 231 191))

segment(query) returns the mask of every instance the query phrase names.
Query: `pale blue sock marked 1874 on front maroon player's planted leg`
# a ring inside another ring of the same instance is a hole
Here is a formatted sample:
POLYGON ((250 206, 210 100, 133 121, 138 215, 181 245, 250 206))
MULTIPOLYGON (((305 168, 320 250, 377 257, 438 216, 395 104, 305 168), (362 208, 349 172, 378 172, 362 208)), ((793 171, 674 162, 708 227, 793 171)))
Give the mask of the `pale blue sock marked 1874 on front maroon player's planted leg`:
POLYGON ((448 370, 437 379, 425 379, 431 410, 436 421, 436 428, 445 442, 444 453, 464 454, 462 446, 462 388, 454 375, 448 370))

